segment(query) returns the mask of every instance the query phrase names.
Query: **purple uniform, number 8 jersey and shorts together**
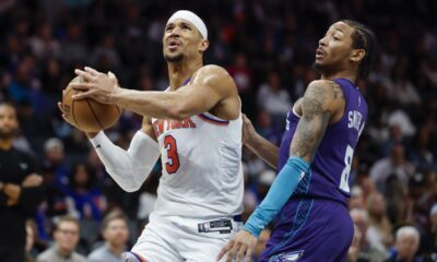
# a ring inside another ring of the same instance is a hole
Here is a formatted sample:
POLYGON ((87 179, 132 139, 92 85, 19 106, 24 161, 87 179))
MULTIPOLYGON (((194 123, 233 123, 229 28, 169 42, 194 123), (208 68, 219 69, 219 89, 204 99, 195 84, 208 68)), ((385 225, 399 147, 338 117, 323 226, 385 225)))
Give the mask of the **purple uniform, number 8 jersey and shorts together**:
MULTIPOLYGON (((350 171, 355 146, 367 119, 367 104, 346 79, 333 80, 343 91, 344 114, 328 126, 306 174, 274 219, 275 228, 260 261, 345 261, 354 229, 347 211, 350 171)), ((299 116, 287 115, 277 170, 290 157, 299 116)))

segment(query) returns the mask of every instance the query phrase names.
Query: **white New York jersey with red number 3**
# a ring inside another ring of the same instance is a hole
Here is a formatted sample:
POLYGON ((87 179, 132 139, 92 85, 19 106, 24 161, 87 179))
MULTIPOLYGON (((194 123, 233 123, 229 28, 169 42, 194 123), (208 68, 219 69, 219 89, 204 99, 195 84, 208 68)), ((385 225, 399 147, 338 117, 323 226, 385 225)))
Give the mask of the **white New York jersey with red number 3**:
POLYGON ((163 176, 153 216, 232 217, 243 212, 241 115, 203 112, 182 121, 152 119, 163 176))

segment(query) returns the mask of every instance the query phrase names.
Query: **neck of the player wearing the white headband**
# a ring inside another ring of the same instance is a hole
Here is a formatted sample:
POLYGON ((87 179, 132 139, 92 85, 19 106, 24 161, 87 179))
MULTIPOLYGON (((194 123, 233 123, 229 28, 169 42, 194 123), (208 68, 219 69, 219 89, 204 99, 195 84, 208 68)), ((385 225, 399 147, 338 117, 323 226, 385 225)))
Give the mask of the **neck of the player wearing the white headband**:
POLYGON ((203 66, 202 61, 168 63, 168 80, 172 90, 177 90, 203 66))

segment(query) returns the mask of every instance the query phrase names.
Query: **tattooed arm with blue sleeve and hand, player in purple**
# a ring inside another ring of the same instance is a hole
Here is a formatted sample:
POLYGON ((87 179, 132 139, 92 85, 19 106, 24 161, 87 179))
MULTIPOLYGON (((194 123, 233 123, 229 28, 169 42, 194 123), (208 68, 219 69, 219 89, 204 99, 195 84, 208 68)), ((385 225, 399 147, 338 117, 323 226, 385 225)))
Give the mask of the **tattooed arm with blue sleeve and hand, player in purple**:
POLYGON ((249 221, 236 237, 218 254, 226 253, 227 261, 237 255, 237 261, 251 251, 262 228, 280 212, 288 201, 302 177, 309 171, 317 147, 332 117, 344 108, 343 93, 332 81, 319 80, 309 84, 302 102, 303 116, 294 134, 290 159, 281 169, 273 184, 249 221))

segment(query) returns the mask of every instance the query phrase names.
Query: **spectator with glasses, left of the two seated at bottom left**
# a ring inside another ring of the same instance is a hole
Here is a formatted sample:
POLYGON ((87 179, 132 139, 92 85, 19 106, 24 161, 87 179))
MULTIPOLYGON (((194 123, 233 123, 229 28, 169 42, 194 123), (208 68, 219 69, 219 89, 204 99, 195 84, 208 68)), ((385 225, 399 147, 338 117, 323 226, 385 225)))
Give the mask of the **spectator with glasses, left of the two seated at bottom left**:
POLYGON ((62 216, 55 226, 55 245, 40 253, 37 262, 85 262, 85 257, 74 251, 80 238, 79 221, 62 216))

